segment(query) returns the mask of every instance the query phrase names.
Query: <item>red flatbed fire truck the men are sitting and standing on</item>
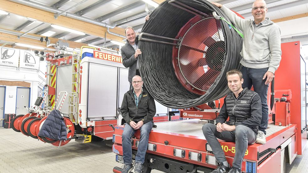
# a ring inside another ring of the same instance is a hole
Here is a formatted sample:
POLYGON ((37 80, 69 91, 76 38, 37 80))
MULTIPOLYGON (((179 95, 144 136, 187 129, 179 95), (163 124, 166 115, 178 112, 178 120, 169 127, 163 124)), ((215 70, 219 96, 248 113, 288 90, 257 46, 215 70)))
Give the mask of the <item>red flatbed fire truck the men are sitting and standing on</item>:
MULTIPOLYGON (((307 147, 306 72, 305 61, 300 55, 300 42, 282 43, 282 59, 275 72, 274 90, 269 86, 269 125, 266 129, 266 144, 248 145, 242 171, 246 173, 285 173, 286 163, 291 164, 296 155, 307 147), (270 108, 271 95, 274 104, 270 108)), ((220 99, 222 101, 222 99, 220 99)), ((216 107, 218 101, 216 101, 216 107)), ((195 173, 211 172, 217 161, 208 145, 202 126, 215 120, 219 109, 204 106, 204 110, 181 109, 180 116, 188 118, 173 122, 157 123, 149 135, 144 171, 152 169, 164 172, 195 173)), ((116 161, 123 163, 123 125, 115 126, 113 152, 116 161)), ((133 158, 138 150, 140 132, 132 138, 133 158)), ((232 165, 234 142, 219 140, 227 161, 232 165)), ((113 172, 121 172, 114 167, 113 172)))

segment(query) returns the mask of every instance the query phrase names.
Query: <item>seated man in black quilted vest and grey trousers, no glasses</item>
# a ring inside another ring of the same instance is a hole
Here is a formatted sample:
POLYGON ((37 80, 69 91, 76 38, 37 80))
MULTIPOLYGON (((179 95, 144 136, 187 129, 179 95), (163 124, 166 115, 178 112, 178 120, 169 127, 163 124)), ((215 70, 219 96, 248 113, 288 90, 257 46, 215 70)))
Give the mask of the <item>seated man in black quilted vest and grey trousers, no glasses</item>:
POLYGON ((242 88, 244 82, 242 73, 236 69, 231 70, 227 72, 227 80, 231 92, 224 99, 216 119, 217 124, 206 123, 202 127, 203 134, 219 163, 212 173, 242 172, 247 146, 256 141, 262 116, 260 96, 248 88, 242 88), (228 117, 230 119, 226 122, 228 117), (235 142, 235 155, 231 168, 217 138, 235 142))

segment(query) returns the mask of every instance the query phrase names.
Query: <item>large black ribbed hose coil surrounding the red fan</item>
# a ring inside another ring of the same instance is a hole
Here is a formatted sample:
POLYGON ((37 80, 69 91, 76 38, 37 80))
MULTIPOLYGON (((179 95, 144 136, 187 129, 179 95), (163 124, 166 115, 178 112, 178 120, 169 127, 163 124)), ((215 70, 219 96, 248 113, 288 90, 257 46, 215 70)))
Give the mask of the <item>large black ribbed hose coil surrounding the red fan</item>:
MULTIPOLYGON (((205 0, 177 1, 206 13, 211 17, 212 12, 215 11, 217 15, 231 23, 219 8, 205 0)), ((142 33, 175 38, 180 32, 180 29, 195 16, 195 14, 170 5, 168 1, 165 1, 151 13, 150 20, 144 24, 142 33)), ((169 108, 183 109, 222 98, 230 91, 227 86, 226 73, 231 69, 241 69, 239 62, 241 59, 242 38, 226 22, 220 20, 220 25, 225 45, 222 67, 219 69, 220 74, 218 77, 203 95, 188 91, 177 79, 172 63, 173 45, 139 41, 139 48, 142 51, 142 54, 138 58, 140 74, 145 87, 155 100, 169 108)), ((166 41, 162 38, 153 38, 150 36, 144 36, 144 38, 166 41)), ((221 42, 218 44, 221 44, 221 42)), ((211 59, 207 61, 215 60, 215 58, 211 57, 207 59, 211 59)))

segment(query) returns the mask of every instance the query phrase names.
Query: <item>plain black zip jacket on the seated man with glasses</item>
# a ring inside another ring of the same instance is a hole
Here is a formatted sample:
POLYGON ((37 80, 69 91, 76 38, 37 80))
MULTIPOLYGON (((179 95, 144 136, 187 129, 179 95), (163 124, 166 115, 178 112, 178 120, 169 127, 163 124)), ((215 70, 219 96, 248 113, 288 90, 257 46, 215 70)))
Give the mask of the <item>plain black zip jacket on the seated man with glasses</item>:
POLYGON ((151 121, 156 114, 156 107, 153 97, 143 88, 141 93, 141 99, 139 100, 138 109, 136 107, 135 97, 133 89, 124 94, 121 113, 123 119, 129 123, 130 121, 144 121, 144 124, 151 121))

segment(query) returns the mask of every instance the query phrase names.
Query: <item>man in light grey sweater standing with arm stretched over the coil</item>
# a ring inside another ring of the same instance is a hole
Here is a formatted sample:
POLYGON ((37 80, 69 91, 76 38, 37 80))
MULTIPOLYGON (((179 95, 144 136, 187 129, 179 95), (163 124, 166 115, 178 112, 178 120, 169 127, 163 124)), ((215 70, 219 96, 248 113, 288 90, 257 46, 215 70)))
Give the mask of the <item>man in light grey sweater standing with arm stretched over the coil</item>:
POLYGON ((265 129, 269 120, 267 92, 281 60, 280 28, 269 18, 265 18, 268 9, 264 0, 253 3, 251 14, 254 20, 243 19, 222 4, 212 4, 226 13, 231 22, 243 31, 243 49, 240 53, 243 88, 250 89, 253 85, 254 91, 261 98, 262 119, 256 143, 265 144, 265 129))

